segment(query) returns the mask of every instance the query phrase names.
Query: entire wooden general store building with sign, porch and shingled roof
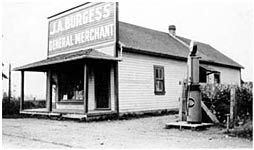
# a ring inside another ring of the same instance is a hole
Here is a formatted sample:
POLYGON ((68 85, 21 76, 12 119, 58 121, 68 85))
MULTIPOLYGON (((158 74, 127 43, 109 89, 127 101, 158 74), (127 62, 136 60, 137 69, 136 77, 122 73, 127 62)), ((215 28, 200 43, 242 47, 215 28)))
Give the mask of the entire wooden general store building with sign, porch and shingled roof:
MULTIPOLYGON (((124 114, 178 109, 190 40, 118 21, 118 3, 85 3, 48 18, 48 55, 21 71, 21 113, 124 114), (46 72, 46 108, 24 109, 25 72, 46 72)), ((241 65, 197 42, 200 82, 241 82, 241 65)))

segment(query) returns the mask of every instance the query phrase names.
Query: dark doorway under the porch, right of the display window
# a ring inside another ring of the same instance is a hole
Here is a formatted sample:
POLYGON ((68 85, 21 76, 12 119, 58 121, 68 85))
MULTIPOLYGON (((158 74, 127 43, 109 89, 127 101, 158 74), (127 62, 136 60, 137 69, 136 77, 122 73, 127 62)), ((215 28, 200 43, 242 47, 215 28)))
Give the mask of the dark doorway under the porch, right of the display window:
POLYGON ((109 109, 110 67, 107 64, 96 65, 95 75, 95 100, 96 109, 109 109))

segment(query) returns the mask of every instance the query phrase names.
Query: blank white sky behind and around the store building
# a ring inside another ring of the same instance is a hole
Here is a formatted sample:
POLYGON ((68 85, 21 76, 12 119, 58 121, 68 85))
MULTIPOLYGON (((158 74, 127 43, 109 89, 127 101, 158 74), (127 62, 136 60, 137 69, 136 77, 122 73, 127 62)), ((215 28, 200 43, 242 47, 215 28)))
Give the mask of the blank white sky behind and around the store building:
MULTIPOLYGON (((47 17, 85 1, 5 0, 2 2, 2 59, 4 71, 46 58, 47 17)), ((119 20, 210 44, 245 67, 244 81, 253 80, 253 3, 239 1, 120 1, 119 20)), ((45 97, 45 74, 25 76, 25 94, 45 97)), ((12 85, 20 93, 20 73, 12 85)), ((3 88, 6 89, 4 80, 3 88)))

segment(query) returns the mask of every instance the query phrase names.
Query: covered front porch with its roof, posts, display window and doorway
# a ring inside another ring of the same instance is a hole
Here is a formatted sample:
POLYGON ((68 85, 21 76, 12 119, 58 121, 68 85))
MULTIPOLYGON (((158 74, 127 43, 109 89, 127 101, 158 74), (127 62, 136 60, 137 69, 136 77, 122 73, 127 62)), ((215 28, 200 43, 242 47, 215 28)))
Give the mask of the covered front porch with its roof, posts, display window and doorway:
POLYGON ((118 114, 118 61, 118 58, 88 49, 15 68, 21 71, 20 113, 83 117, 118 114), (24 109, 27 71, 46 72, 45 108, 24 109))

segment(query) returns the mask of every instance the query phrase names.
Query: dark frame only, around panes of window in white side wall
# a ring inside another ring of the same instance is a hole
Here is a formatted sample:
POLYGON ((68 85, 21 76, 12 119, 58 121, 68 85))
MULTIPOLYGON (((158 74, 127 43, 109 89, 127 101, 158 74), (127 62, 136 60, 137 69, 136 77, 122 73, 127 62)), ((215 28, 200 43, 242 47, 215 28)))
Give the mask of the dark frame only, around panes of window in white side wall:
POLYGON ((159 66, 159 65, 154 65, 153 66, 154 70, 154 94, 155 95, 165 95, 165 69, 164 66, 159 66), (161 72, 160 78, 156 78, 156 71, 161 72), (162 91, 158 91, 156 88, 156 82, 160 81, 162 82, 162 91))

